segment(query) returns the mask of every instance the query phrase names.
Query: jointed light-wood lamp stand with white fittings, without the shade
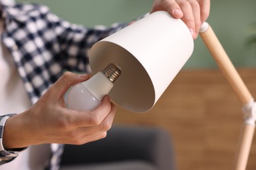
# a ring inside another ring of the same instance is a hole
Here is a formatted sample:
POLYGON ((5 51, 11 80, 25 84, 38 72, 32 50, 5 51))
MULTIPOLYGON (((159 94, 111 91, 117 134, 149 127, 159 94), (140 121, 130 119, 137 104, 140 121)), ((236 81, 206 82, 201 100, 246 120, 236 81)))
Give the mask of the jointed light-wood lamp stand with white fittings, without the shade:
POLYGON ((244 170, 247 165, 251 142, 253 141, 256 120, 256 103, 245 86, 244 81, 230 61, 230 58, 228 58, 228 55, 217 39, 213 29, 211 29, 211 26, 207 22, 204 22, 200 27, 200 36, 217 65, 219 65, 223 75, 232 86, 236 95, 238 95, 242 105, 244 105, 242 109, 244 111, 244 125, 240 134, 238 150, 233 165, 234 170, 244 170))

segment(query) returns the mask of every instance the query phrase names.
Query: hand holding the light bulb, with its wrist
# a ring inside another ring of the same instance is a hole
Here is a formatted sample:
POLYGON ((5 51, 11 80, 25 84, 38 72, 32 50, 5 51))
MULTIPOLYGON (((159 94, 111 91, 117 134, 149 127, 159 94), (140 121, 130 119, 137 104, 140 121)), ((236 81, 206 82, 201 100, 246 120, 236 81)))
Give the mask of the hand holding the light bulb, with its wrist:
POLYGON ((70 86, 87 80, 87 75, 64 73, 30 109, 12 116, 5 124, 3 144, 22 148, 32 144, 83 144, 106 137, 116 107, 105 96, 93 111, 66 109, 64 94, 70 86))

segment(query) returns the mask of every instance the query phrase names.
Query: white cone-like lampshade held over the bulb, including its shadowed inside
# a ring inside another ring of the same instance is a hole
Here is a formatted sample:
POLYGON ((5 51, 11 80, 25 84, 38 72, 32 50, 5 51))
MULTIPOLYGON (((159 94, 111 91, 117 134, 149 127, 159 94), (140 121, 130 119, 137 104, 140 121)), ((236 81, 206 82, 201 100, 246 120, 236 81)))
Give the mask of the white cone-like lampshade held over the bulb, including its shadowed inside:
POLYGON ((93 73, 108 63, 121 66, 109 95, 131 112, 146 112, 190 58, 194 41, 182 20, 154 12, 96 42, 89 52, 93 73))

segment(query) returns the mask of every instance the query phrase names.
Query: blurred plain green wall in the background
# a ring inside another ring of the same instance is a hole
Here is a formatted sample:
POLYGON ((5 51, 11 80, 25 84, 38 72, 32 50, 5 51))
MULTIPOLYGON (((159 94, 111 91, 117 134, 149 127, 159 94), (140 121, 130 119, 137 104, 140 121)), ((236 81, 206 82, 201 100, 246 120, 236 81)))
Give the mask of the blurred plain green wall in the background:
MULTIPOLYGON (((17 0, 16 2, 41 3, 61 18, 70 22, 93 25, 110 25, 114 22, 129 22, 148 12, 152 0, 17 0)), ((255 46, 248 46, 250 25, 256 22, 255 0, 212 0, 211 24, 236 67, 256 67, 255 46)), ((194 52, 184 68, 217 67, 202 39, 195 41, 194 52)))

